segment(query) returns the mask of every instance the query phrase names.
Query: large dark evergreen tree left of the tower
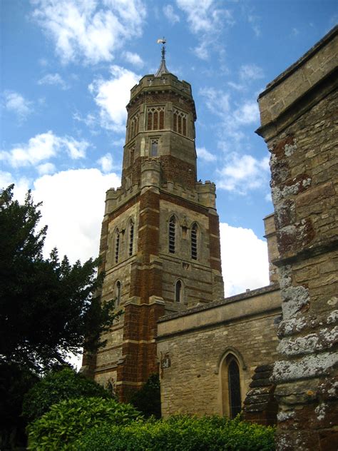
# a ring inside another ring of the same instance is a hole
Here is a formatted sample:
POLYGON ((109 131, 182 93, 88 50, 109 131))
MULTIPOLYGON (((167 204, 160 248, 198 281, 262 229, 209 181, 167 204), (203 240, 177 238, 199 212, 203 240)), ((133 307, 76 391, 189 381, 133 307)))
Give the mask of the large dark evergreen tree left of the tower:
POLYGON ((0 360, 40 372, 83 345, 95 350, 115 316, 113 303, 93 298, 103 280, 98 261, 70 265, 56 249, 43 258, 41 203, 29 192, 21 205, 13 187, 0 193, 0 360))

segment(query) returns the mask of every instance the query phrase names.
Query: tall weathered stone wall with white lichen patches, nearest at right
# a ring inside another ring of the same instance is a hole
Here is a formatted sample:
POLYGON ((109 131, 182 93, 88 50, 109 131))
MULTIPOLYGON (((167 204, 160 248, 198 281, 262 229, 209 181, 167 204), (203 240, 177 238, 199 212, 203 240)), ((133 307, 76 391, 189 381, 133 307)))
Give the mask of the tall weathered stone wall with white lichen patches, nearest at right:
POLYGON ((278 450, 336 450, 337 27, 260 95, 271 152, 283 320, 274 365, 278 450))

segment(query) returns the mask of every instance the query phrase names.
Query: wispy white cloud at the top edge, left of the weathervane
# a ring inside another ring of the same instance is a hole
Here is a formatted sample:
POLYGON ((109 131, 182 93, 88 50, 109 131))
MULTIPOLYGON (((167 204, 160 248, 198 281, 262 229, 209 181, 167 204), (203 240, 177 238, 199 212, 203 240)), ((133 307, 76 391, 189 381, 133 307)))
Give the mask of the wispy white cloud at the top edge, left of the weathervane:
POLYGON ((123 44, 142 34, 141 0, 34 0, 32 16, 53 41, 63 63, 111 61, 123 44))

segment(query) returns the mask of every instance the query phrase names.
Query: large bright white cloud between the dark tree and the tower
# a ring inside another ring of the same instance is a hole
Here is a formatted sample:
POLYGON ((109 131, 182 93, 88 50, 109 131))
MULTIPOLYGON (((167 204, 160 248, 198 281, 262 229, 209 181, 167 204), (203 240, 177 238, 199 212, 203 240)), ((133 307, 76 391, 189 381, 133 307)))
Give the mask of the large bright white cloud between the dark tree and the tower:
POLYGON ((105 192, 120 185, 115 173, 98 169, 62 171, 34 182, 34 202, 43 201, 41 226, 48 225, 45 255, 57 247, 72 263, 98 255, 105 192), (90 212, 90 214, 88 214, 90 212))

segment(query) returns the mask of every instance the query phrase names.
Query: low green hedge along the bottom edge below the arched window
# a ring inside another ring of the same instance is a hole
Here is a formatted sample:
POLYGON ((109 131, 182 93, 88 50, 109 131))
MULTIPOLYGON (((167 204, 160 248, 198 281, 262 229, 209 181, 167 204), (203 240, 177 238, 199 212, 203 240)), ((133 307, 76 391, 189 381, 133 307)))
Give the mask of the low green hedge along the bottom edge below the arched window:
POLYGON ((272 451, 275 430, 237 417, 170 417, 88 430, 76 451, 272 451))

